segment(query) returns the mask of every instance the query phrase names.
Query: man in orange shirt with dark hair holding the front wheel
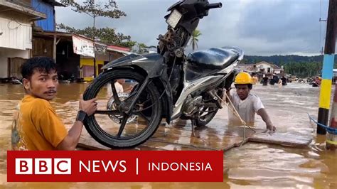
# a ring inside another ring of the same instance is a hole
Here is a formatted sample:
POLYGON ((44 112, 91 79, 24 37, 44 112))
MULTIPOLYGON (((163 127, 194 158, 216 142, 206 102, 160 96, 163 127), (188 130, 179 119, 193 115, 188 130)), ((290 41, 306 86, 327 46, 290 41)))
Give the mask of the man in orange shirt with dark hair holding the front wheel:
POLYGON ((76 121, 65 129, 50 100, 58 88, 56 65, 51 58, 36 57, 21 67, 25 97, 18 103, 12 125, 14 150, 74 150, 80 139, 85 117, 97 110, 96 99, 79 103, 76 121))

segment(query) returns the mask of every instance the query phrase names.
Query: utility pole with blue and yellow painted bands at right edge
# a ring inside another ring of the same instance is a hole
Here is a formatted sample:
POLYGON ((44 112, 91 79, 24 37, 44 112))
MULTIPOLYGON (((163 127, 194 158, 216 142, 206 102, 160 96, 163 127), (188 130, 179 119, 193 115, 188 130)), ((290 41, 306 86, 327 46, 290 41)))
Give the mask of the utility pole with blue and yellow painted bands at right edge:
MULTIPOLYGON (((328 20, 326 24, 326 42, 323 57, 321 92, 319 95, 320 124, 328 124, 328 111, 330 109, 331 80, 333 77, 333 63, 335 58, 336 26, 337 26, 337 0, 330 0, 328 6, 328 20)), ((336 95, 336 94, 335 94, 336 95)), ((326 134, 323 126, 317 125, 317 134, 326 134)))

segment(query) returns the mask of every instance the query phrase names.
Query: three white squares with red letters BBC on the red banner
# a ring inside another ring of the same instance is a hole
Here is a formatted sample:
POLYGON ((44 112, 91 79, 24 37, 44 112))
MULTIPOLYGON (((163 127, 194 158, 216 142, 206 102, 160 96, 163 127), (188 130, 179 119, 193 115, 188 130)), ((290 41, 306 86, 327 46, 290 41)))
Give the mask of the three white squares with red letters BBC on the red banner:
POLYGON ((70 175, 70 158, 16 158, 16 175, 70 175))

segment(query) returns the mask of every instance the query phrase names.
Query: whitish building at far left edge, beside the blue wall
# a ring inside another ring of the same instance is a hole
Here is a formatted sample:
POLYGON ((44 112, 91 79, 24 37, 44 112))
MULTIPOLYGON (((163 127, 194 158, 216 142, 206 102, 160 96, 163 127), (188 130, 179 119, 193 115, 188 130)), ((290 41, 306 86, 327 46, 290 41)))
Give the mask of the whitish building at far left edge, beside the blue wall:
POLYGON ((21 64, 31 58, 33 21, 45 18, 30 0, 0 0, 0 78, 20 77, 21 64))

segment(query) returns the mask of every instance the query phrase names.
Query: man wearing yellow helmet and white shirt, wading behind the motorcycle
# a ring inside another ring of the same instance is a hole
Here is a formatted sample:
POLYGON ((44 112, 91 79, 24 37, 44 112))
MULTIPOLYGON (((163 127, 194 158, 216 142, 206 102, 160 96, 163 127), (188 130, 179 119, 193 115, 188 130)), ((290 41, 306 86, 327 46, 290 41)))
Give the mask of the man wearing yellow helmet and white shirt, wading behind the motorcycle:
MULTIPOLYGON (((230 92, 230 88, 227 90, 227 95, 230 97, 230 101, 234 105, 240 117, 248 124, 254 125, 255 113, 260 115, 264 123, 266 123, 267 130, 276 131, 276 127, 272 124, 266 109, 256 95, 251 95, 252 90, 252 77, 247 72, 240 72, 235 77, 236 92, 230 92)), ((229 121, 238 121, 234 114, 229 112, 229 121)))

